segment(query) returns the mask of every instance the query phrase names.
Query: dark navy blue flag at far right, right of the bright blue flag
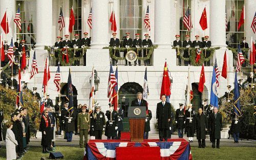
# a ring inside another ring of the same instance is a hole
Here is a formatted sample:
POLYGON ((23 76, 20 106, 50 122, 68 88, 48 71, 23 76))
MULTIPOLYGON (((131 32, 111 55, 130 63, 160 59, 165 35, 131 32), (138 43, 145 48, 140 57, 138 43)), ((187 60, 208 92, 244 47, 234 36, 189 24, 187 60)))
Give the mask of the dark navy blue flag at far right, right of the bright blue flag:
POLYGON ((238 117, 241 117, 241 107, 240 107, 240 92, 239 92, 239 86, 238 86, 238 79, 237 79, 237 72, 234 76, 234 113, 238 117))

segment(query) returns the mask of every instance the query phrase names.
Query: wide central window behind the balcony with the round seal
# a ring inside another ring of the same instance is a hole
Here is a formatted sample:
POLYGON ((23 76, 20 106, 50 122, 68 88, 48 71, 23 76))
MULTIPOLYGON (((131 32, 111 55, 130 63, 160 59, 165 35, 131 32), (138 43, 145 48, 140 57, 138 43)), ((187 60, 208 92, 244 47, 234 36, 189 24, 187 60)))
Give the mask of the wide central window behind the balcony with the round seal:
POLYGON ((142 33, 142 0, 120 0, 120 38, 125 33, 142 33))

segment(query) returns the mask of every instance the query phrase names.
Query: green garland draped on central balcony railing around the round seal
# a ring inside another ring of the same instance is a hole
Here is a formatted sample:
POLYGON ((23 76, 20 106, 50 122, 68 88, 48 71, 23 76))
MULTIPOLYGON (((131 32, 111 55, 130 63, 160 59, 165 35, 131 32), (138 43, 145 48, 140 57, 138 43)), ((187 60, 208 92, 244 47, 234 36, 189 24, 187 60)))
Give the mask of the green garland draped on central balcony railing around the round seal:
MULTIPOLYGON (((137 59, 138 60, 147 60, 147 59, 150 59, 152 53, 154 52, 154 49, 156 49, 158 47, 158 45, 153 45, 153 47, 148 47, 147 48, 147 56, 146 57, 138 57, 137 56, 137 59)), ((109 49, 110 51, 110 57, 112 59, 115 59, 115 60, 124 60, 125 57, 117 57, 116 55, 113 54, 113 50, 114 48, 113 47, 104 47, 103 49, 109 49)), ((138 51, 142 51, 144 50, 145 48, 138 48, 138 51)), ((137 51, 137 48, 129 48, 129 49, 126 49, 126 48, 116 48, 115 49, 116 52, 124 52, 124 51, 137 51)))

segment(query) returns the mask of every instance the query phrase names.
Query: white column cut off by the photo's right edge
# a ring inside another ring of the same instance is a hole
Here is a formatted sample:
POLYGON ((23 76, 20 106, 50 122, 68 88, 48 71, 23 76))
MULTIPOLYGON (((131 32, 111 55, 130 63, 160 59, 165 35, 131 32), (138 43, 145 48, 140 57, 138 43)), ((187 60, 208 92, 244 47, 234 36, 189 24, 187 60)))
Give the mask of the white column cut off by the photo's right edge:
POLYGON ((251 37, 253 42, 255 43, 256 34, 253 33, 251 29, 251 22, 255 14, 256 3, 255 0, 246 0, 245 1, 245 37, 246 41, 249 44, 249 48, 251 47, 251 37))

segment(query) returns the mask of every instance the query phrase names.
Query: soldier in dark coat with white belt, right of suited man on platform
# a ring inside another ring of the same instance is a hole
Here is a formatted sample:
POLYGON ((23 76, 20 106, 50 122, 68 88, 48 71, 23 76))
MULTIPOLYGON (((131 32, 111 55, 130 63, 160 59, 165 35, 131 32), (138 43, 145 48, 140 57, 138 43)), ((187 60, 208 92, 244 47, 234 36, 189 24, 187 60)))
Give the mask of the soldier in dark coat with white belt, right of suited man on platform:
POLYGON ((185 112, 185 117, 188 141, 193 142, 196 124, 196 111, 192 108, 192 104, 188 106, 188 109, 185 112))

